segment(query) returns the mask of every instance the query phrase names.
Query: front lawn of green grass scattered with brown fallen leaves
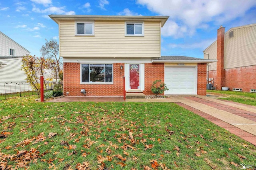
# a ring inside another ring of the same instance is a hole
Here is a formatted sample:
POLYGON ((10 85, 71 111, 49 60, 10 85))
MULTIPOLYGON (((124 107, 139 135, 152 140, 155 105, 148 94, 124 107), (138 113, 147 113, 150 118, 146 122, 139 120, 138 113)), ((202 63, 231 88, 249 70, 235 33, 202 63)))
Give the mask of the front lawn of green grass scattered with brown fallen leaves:
POLYGON ((0 165, 62 170, 79 169, 84 162, 92 170, 161 170, 255 163, 255 146, 173 103, 34 99, 0 102, 0 133, 7 135, 0 138, 0 165), (50 133, 57 135, 50 138, 50 133))

